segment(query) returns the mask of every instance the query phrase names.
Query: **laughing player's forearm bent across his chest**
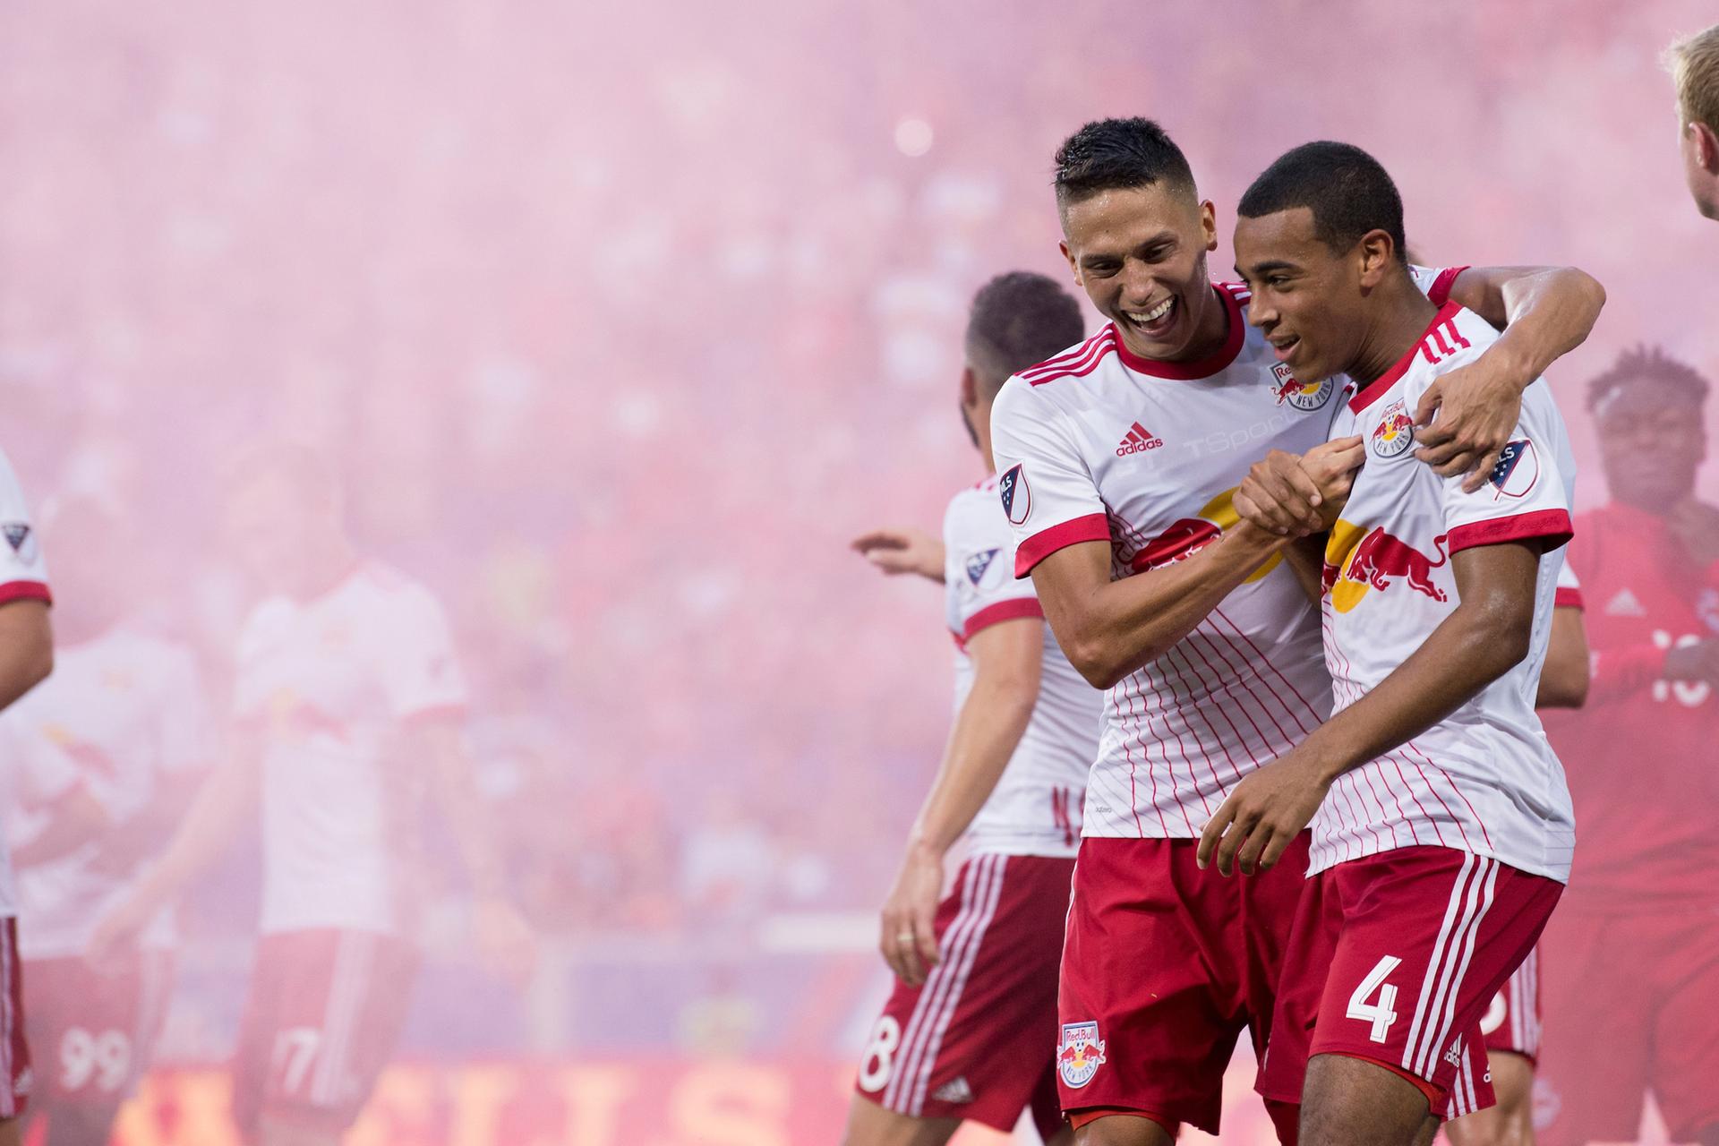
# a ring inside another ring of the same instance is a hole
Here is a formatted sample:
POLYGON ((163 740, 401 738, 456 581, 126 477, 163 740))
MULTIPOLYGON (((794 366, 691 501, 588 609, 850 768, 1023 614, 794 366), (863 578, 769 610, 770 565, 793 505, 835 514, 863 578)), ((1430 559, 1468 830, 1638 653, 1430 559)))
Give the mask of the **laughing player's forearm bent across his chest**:
POLYGON ((1286 545, 1243 521, 1186 560, 1098 586, 1073 617, 1049 601, 1045 613, 1080 674, 1109 689, 1171 651, 1286 545))

